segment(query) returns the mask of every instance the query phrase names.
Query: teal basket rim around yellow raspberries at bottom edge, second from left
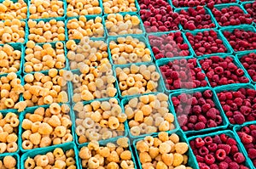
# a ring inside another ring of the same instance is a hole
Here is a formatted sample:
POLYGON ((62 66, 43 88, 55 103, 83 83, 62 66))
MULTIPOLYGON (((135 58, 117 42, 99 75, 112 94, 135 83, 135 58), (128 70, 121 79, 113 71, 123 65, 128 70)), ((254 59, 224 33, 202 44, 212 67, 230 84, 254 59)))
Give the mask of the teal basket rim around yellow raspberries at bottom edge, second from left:
POLYGON ((25 169, 24 164, 25 164, 26 159, 34 158, 36 155, 46 155, 49 152, 53 152, 56 148, 61 148, 61 149, 63 149, 64 152, 69 150, 69 149, 73 149, 74 153, 75 153, 74 160, 76 161, 76 167, 79 168, 78 149, 77 149, 76 145, 73 144, 73 143, 59 144, 59 145, 55 145, 55 146, 52 146, 52 147, 45 147, 45 148, 41 149, 40 152, 38 152, 38 150, 33 150, 33 151, 30 151, 30 152, 26 152, 25 154, 23 154, 21 156, 20 168, 25 169))

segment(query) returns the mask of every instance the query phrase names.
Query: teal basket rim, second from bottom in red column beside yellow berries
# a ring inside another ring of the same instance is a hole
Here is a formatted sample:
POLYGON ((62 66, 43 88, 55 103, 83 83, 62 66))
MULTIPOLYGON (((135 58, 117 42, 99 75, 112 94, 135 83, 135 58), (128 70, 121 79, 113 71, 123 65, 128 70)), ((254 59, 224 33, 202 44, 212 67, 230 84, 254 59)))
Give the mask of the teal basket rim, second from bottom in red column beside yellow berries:
MULTIPOLYGON (((215 104, 215 108, 217 110, 219 110, 219 112, 220 112, 220 116, 222 118, 222 123, 219 124, 217 127, 207 127, 206 126, 206 128, 198 130, 198 131, 188 130, 188 131, 184 132, 187 136, 188 135, 189 136, 197 135, 197 134, 205 133, 205 132, 215 132, 215 131, 225 130, 229 126, 229 121, 228 121, 227 117, 224 115, 224 111, 222 110, 221 104, 218 101, 217 94, 214 92, 212 87, 201 87, 201 88, 196 88, 196 89, 192 89, 192 90, 171 93, 170 97, 169 97, 169 100, 170 100, 170 103, 171 103, 171 106, 172 106, 172 112, 174 112, 176 114, 177 118, 178 118, 178 115, 177 115, 177 112, 175 110, 174 104, 172 103, 172 97, 177 97, 182 93, 186 93, 186 94, 189 94, 189 95, 192 96, 194 93, 197 93, 197 92, 204 93, 206 90, 211 90, 212 91, 212 101, 215 104)), ((179 105, 181 105, 181 104, 179 104, 179 105)), ((192 109, 192 107, 190 109, 192 109)))

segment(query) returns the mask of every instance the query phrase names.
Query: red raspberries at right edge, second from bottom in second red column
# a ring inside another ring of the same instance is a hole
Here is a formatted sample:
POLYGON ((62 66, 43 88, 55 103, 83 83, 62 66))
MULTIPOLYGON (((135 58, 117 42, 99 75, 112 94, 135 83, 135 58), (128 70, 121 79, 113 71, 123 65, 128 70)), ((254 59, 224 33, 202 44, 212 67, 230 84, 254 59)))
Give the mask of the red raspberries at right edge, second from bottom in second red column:
POLYGON ((256 119, 256 90, 240 88, 218 93, 218 100, 231 124, 242 124, 256 119))

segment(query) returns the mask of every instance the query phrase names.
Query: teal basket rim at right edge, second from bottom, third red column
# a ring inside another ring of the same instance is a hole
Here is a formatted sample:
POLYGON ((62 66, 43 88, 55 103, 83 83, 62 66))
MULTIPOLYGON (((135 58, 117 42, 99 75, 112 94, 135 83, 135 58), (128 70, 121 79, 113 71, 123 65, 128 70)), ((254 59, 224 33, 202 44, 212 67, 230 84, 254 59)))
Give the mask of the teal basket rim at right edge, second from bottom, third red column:
MULTIPOLYGON (((242 31, 253 31, 254 34, 256 33, 256 29, 255 29, 255 27, 253 27, 253 25, 227 26, 227 27, 224 27, 224 28, 220 29, 221 37, 226 39, 226 37, 224 37, 224 31, 229 31, 229 32, 232 33, 236 29, 242 30, 242 31)), ((227 40, 227 42, 228 42, 228 40, 227 40)), ((232 48, 232 46, 230 45, 230 42, 228 42, 228 44, 229 44, 229 48, 231 49, 231 52, 234 53, 234 54, 242 54, 244 52, 251 52, 251 51, 256 49, 256 48, 254 48, 253 50, 247 50, 246 49, 246 50, 242 50, 242 51, 235 51, 235 49, 232 48)))

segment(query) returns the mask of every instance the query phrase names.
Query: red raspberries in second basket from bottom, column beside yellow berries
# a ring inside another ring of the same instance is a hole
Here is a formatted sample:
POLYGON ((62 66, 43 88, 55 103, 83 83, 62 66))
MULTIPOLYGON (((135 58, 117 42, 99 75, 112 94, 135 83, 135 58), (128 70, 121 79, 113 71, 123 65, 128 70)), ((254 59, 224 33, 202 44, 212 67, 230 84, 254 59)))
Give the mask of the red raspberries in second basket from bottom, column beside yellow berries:
POLYGON ((177 121, 183 131, 218 127, 223 123, 219 110, 213 101, 211 90, 193 94, 181 93, 172 97, 177 121))

